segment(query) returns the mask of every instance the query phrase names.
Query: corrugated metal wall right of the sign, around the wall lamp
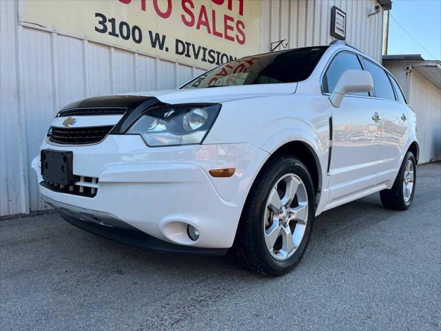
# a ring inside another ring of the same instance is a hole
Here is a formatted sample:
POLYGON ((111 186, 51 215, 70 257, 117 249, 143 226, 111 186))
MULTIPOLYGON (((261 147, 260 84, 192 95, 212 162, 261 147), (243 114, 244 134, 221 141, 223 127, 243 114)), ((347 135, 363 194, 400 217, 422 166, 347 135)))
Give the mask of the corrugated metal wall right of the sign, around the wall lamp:
POLYGON ((288 48, 327 45, 335 39, 329 30, 331 8, 337 6, 347 14, 348 43, 381 62, 383 14, 367 17, 376 5, 376 0, 263 0, 261 49, 268 52, 271 42, 282 39, 288 48))

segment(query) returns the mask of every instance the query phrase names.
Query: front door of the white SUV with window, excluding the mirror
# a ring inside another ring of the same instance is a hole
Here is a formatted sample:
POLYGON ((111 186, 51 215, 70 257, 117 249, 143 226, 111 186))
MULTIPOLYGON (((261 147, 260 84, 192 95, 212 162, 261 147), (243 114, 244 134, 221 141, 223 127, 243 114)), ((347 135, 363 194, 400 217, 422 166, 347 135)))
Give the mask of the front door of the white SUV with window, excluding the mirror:
MULTIPOLYGON (((356 54, 338 53, 323 76, 323 92, 332 92, 341 74, 349 69, 362 70, 356 54)), ((339 108, 331 108, 328 174, 329 201, 334 201, 378 183, 382 122, 380 108, 367 92, 347 94, 339 108), (373 119, 375 115, 378 119, 373 119)))

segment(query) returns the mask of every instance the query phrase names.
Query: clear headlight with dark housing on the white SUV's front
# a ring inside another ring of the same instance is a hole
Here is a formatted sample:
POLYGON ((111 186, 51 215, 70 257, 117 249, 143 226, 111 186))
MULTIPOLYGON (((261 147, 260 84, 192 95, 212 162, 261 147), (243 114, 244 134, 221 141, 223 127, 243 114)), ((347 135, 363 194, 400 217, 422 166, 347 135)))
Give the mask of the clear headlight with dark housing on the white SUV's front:
POLYGON ((141 134, 151 147, 202 143, 219 110, 219 104, 188 104, 147 110, 127 134, 141 134))

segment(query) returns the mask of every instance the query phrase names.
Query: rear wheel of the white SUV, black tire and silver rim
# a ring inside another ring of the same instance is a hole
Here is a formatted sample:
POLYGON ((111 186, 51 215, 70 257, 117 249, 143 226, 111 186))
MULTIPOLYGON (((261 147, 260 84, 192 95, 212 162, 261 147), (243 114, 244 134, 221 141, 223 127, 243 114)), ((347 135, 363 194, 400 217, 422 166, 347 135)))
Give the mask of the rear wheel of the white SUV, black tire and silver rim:
POLYGON ((400 171, 390 190, 380 191, 380 199, 384 207, 392 210, 407 210, 413 200, 416 188, 416 159, 412 152, 407 152, 402 161, 400 171), (409 167, 409 168, 408 168, 409 167), (409 170, 412 170, 411 176, 409 170), (409 176, 406 181, 405 176, 409 176), (407 191, 404 190, 404 185, 407 185, 407 191), (411 188, 409 189, 409 184, 411 188))

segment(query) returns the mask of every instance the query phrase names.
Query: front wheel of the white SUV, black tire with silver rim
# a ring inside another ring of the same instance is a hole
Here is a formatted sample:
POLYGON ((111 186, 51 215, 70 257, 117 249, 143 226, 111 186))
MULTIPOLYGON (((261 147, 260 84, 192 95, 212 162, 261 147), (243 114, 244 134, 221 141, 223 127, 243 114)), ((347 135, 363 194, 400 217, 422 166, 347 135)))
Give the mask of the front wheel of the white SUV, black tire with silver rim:
POLYGON ((240 217, 234 243, 239 263, 269 276, 294 268, 307 249, 315 212, 314 184, 305 165, 290 155, 270 159, 254 181, 240 217))

